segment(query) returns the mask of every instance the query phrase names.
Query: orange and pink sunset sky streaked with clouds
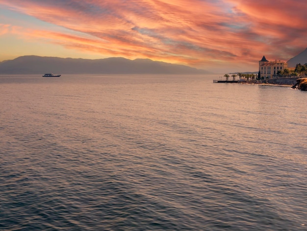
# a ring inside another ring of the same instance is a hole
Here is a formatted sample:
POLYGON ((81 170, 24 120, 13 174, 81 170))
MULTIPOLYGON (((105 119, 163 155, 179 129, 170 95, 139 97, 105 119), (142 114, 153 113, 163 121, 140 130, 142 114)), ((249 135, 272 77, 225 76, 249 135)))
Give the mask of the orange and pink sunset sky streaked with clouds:
POLYGON ((306 0, 0 0, 0 61, 150 58, 257 71, 307 48, 306 0))

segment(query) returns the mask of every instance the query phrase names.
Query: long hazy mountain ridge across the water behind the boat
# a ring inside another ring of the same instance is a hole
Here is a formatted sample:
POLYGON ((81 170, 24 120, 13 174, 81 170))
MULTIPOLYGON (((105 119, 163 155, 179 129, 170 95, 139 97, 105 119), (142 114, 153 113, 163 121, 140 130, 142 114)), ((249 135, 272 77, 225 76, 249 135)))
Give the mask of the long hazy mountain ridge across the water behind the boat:
POLYGON ((206 74, 189 66, 151 59, 22 56, 0 62, 0 74, 206 74))

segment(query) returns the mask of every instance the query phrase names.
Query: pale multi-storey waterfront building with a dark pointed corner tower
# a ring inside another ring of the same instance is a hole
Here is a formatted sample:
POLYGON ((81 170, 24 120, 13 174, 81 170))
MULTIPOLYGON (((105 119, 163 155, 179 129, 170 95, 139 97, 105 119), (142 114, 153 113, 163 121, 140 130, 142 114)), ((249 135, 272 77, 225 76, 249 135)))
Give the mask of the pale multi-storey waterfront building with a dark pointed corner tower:
POLYGON ((277 77, 279 71, 287 69, 288 64, 281 60, 268 61, 263 56, 259 61, 259 73, 261 79, 273 79, 277 77))

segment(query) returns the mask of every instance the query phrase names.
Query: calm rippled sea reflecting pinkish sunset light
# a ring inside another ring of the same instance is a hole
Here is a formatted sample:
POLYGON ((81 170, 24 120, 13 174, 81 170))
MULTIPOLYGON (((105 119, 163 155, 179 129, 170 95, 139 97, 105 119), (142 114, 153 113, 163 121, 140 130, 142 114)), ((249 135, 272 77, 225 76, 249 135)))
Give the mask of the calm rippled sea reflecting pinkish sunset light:
POLYGON ((307 92, 0 76, 0 230, 307 230, 307 92))

